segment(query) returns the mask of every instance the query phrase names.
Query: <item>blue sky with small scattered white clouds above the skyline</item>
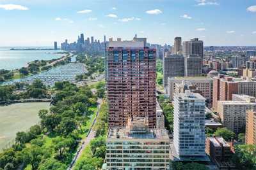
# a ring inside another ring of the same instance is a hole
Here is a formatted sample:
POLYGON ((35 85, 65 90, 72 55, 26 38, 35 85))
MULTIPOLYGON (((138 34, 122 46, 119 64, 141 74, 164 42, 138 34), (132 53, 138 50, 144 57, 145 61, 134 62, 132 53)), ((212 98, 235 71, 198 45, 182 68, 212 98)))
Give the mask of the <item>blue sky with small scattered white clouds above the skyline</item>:
POLYGON ((80 33, 102 41, 256 45, 256 0, 0 0, 0 46, 52 46, 80 33))

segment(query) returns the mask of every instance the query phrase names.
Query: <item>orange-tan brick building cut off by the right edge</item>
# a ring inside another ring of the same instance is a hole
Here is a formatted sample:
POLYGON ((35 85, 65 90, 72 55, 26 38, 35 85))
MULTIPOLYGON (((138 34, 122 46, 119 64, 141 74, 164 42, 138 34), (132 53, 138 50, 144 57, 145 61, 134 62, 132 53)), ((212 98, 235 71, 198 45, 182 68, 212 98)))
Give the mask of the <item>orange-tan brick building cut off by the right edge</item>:
POLYGON ((256 145, 256 111, 246 111, 246 131, 245 143, 248 145, 256 145))

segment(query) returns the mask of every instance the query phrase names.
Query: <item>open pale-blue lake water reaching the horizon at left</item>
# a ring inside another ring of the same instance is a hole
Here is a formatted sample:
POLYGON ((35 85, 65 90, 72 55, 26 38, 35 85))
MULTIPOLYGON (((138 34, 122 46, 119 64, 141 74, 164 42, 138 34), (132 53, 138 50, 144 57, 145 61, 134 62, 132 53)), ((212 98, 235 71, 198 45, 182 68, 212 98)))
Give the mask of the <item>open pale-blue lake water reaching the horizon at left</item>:
MULTIPOLYGON (((33 60, 50 60, 62 57, 62 50, 10 50, 12 47, 0 47, 0 69, 19 69, 33 60)), ((15 47, 29 48, 29 47, 15 47)), ((31 48, 31 47, 30 47, 31 48)), ((32 47, 49 48, 49 47, 32 47)))

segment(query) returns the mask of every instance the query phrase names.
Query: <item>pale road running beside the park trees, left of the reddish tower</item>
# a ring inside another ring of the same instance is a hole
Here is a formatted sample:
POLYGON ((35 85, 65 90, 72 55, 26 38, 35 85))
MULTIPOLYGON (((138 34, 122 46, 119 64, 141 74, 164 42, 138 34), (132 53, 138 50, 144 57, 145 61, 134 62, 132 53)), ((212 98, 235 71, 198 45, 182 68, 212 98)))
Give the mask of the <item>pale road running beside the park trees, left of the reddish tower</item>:
POLYGON ((68 170, 74 169, 76 161, 79 159, 79 157, 81 157, 84 148, 90 143, 90 141, 92 141, 92 139, 95 138, 95 131, 93 131, 93 125, 95 124, 97 117, 99 115, 99 110, 100 110, 100 106, 102 104, 102 99, 98 99, 97 103, 98 103, 98 106, 97 106, 96 117, 93 120, 92 126, 90 127, 90 130, 88 132, 88 135, 86 136, 86 138, 82 139, 82 141, 81 141, 82 145, 80 146, 79 151, 77 152, 76 156, 72 160, 70 167, 68 167, 68 170))

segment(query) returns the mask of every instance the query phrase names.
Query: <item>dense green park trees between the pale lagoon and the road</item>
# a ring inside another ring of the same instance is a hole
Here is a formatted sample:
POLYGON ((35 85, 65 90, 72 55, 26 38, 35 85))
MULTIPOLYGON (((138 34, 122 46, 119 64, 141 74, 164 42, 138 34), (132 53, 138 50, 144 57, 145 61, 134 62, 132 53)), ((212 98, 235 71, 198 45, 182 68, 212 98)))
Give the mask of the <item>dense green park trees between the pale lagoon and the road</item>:
POLYGON ((15 145, 0 153, 0 169, 21 165, 32 170, 67 168, 80 136, 86 132, 90 107, 97 105, 97 96, 90 87, 77 88, 68 81, 56 83, 55 90, 54 105, 38 113, 40 125, 18 132, 15 145))

